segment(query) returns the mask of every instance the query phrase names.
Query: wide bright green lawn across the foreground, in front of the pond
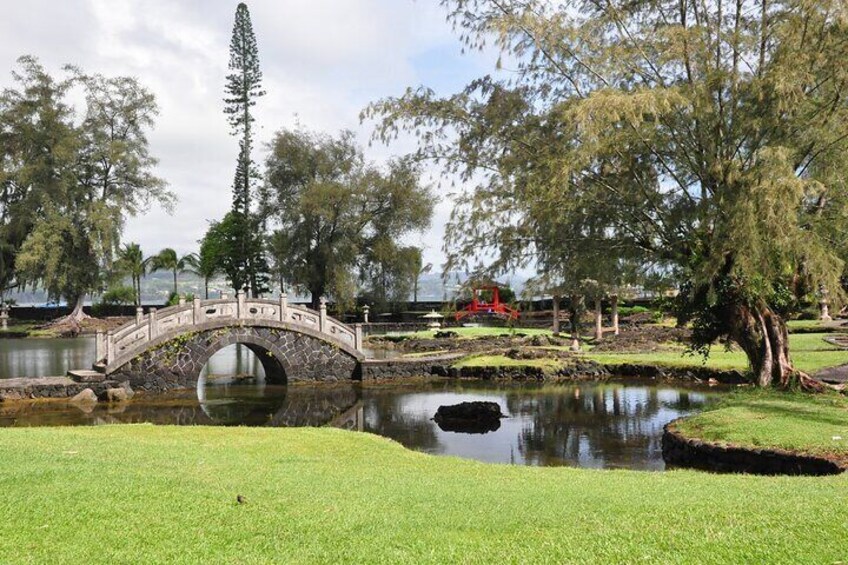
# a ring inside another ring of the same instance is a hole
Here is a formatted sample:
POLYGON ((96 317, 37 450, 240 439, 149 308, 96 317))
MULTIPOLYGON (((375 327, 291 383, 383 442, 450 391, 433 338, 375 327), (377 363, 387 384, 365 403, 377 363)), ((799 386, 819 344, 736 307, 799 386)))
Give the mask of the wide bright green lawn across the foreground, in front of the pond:
POLYGON ((528 468, 334 429, 149 425, 3 429, 0 462, 4 563, 848 559, 848 475, 528 468))

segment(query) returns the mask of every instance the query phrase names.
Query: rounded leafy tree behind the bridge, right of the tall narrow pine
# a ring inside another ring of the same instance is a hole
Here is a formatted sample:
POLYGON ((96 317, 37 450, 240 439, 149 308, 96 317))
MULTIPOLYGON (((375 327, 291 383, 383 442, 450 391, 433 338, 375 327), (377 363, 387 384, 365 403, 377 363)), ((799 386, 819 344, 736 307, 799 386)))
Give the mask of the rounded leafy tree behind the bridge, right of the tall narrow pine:
POLYGON ((350 303, 356 266, 365 263, 363 271, 372 272, 367 262, 378 242, 390 249, 425 229, 433 208, 411 161, 381 170, 365 161, 351 132, 277 133, 262 196, 262 217, 276 228, 280 275, 309 292, 314 308, 325 295, 350 303))

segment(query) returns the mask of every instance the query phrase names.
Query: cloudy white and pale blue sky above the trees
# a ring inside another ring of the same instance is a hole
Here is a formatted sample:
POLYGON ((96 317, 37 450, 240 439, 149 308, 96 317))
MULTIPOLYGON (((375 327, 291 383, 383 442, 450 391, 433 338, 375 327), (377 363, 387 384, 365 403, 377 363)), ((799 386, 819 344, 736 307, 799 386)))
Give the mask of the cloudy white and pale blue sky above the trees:
MULTIPOLYGON (((66 63, 107 76, 131 75, 151 89, 161 114, 150 134, 159 176, 179 202, 131 219, 125 241, 145 253, 163 247, 194 251, 209 220, 230 208, 238 143, 223 114, 223 88, 237 2, 229 0, 0 0, 0 87, 24 54, 51 72, 66 63)), ((425 84, 448 94, 491 72, 493 54, 462 55, 437 0, 252 0, 248 2, 267 95, 256 111, 260 150, 296 122, 336 133, 357 132, 368 102, 425 84)), ((377 162, 410 151, 410 140, 366 147, 377 162)), ((437 179, 436 179, 437 180, 437 179)), ((442 262, 450 203, 433 227, 410 243, 425 261, 442 262)))

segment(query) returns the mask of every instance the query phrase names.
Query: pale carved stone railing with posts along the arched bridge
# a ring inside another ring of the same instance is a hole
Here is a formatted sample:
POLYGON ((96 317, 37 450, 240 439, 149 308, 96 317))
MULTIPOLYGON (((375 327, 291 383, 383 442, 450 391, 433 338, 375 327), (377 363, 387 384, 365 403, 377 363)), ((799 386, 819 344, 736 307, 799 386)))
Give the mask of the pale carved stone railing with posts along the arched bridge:
POLYGON ((351 328, 327 316, 327 307, 321 300, 318 312, 288 303, 286 295, 278 300, 246 298, 239 292, 235 298, 201 300, 164 308, 151 308, 145 315, 141 308, 136 310, 134 322, 109 332, 97 332, 95 340, 95 363, 109 365, 115 361, 127 361, 142 353, 148 344, 165 334, 189 332, 195 326, 221 323, 238 325, 239 322, 261 324, 263 321, 283 323, 292 330, 305 329, 319 332, 327 341, 362 351, 362 328, 357 324, 351 328))

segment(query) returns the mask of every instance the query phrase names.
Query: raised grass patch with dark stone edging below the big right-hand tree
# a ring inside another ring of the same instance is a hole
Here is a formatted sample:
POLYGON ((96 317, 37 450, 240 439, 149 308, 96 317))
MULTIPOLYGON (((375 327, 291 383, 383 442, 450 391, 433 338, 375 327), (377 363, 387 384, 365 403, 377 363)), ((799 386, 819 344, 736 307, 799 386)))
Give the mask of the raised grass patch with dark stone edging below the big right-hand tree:
POLYGON ((720 444, 831 455, 848 463, 848 398, 836 393, 745 390, 682 420, 677 429, 720 444))

